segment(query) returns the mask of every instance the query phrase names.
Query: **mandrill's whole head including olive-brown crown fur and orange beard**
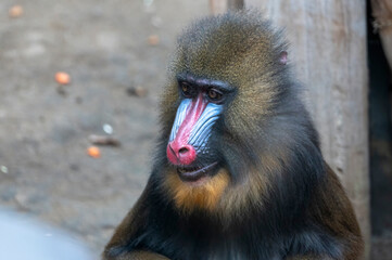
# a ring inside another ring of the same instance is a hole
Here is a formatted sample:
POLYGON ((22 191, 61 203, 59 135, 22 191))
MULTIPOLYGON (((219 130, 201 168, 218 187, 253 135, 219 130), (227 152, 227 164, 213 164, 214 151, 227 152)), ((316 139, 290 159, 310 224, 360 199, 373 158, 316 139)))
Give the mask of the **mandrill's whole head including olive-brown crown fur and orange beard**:
POLYGON ((254 202, 287 151, 274 143, 286 127, 269 130, 287 91, 284 44, 241 21, 191 27, 170 67, 161 112, 168 167, 161 180, 188 211, 236 211, 254 202))

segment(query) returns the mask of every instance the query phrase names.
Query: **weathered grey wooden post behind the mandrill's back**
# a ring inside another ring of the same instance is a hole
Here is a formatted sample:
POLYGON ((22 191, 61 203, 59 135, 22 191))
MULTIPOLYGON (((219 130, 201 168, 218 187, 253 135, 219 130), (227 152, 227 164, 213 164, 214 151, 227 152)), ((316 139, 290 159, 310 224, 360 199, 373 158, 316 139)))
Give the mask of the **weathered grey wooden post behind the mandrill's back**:
POLYGON ((366 1, 244 0, 244 6, 261 9, 265 17, 286 28, 291 43, 289 61, 308 89, 307 105, 320 133, 324 156, 353 202, 368 259, 366 1))

